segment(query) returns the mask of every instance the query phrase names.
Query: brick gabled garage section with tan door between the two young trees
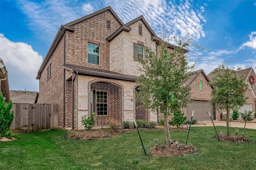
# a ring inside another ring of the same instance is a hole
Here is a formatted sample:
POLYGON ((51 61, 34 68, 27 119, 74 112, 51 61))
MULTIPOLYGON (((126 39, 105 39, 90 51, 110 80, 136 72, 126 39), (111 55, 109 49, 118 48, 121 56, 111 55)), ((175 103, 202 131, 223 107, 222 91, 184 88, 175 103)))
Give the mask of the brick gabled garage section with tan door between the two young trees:
POLYGON ((213 106, 209 104, 212 94, 212 86, 209 85, 209 78, 205 74, 204 70, 197 70, 188 81, 186 85, 190 86, 191 98, 193 102, 188 104, 186 108, 187 120, 191 119, 192 111, 194 110, 193 119, 197 121, 210 121, 210 111, 213 119, 215 120, 215 113, 213 106))

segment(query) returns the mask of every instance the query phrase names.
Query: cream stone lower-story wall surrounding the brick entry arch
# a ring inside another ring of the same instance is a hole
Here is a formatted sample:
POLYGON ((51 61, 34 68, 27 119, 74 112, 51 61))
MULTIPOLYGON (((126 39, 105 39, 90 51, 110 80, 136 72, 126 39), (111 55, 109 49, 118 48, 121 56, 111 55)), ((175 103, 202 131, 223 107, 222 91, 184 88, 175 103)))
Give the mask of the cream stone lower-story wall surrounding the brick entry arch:
POLYGON ((133 98, 133 87, 136 84, 135 82, 126 82, 121 80, 111 80, 106 78, 95 78, 91 76, 82 76, 78 75, 78 107, 77 107, 77 118, 78 126, 76 129, 84 129, 81 120, 82 116, 89 115, 90 113, 90 89, 91 85, 102 85, 109 86, 112 88, 112 100, 108 96, 108 105, 112 109, 108 115, 99 115, 96 118, 96 125, 108 125, 108 119, 117 119, 119 121, 133 121, 135 118, 134 115, 134 102, 133 98), (118 91, 118 96, 116 96, 118 91), (109 103, 110 102, 110 103, 109 103), (116 110, 117 109, 117 110, 116 110), (99 117, 101 117, 99 119, 99 117), (104 121, 106 120, 106 123, 104 121))

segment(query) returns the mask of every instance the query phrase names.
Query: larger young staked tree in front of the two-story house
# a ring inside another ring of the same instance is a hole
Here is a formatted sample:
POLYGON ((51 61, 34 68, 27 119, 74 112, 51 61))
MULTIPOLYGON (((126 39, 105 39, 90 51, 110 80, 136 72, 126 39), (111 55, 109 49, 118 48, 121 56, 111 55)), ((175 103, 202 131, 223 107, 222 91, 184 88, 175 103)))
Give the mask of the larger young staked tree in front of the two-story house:
POLYGON ((152 111, 160 111, 164 114, 165 144, 170 146, 170 133, 168 128, 167 109, 179 111, 192 102, 190 90, 184 82, 193 74, 195 64, 188 65, 188 56, 184 49, 190 46, 190 40, 177 41, 178 47, 170 53, 167 43, 160 42, 158 55, 152 49, 148 49, 148 60, 140 59, 141 74, 136 81, 138 90, 135 92, 136 100, 152 111))

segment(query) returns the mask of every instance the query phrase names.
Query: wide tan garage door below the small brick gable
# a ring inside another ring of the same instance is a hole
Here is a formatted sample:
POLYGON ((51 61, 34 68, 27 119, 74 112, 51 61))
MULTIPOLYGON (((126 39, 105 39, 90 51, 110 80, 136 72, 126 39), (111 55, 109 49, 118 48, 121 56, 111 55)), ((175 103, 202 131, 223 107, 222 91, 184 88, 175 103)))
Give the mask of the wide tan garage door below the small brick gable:
POLYGON ((189 104, 186 109, 187 120, 191 120, 191 115, 193 110, 194 110, 193 119, 196 119, 197 121, 210 121, 211 118, 209 116, 208 111, 210 111, 213 117, 213 107, 209 106, 209 103, 206 101, 195 100, 194 102, 189 104))

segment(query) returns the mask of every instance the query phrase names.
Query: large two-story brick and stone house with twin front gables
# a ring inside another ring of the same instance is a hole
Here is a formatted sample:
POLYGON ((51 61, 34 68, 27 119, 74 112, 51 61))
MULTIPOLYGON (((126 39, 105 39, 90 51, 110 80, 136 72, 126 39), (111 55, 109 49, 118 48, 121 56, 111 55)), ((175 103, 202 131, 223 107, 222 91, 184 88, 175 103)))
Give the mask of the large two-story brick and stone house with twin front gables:
MULTIPOLYGON (((160 38, 140 16, 124 24, 110 7, 61 25, 36 79, 37 103, 58 104, 58 127, 83 129, 82 116, 96 113, 96 125, 110 119, 156 121, 132 100, 140 75, 138 57, 158 51, 160 38)), ((174 45, 168 43, 169 50, 174 45)), ((188 52, 184 50, 184 52, 188 52)))

